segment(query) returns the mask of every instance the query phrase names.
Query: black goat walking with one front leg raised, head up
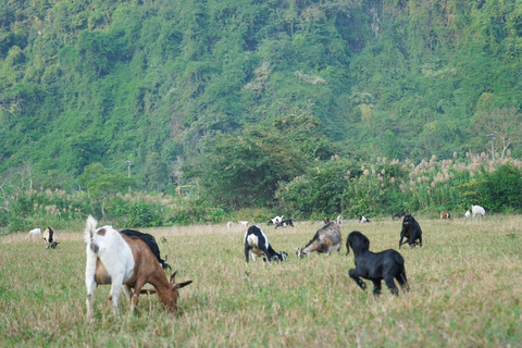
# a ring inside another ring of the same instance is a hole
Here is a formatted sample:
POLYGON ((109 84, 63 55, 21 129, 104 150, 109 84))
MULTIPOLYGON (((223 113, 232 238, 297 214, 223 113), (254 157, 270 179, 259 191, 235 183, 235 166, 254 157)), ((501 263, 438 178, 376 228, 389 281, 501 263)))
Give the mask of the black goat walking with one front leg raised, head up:
POLYGON ((370 251, 370 239, 359 231, 349 234, 346 240, 346 254, 353 250, 356 268, 348 274, 360 286, 366 288, 366 284, 360 277, 372 281, 373 296, 377 298, 381 295, 381 282, 384 279, 391 294, 399 295, 399 289, 395 285, 394 278, 402 287, 402 290, 410 290, 408 278, 406 277, 405 259, 393 249, 381 252, 370 251))

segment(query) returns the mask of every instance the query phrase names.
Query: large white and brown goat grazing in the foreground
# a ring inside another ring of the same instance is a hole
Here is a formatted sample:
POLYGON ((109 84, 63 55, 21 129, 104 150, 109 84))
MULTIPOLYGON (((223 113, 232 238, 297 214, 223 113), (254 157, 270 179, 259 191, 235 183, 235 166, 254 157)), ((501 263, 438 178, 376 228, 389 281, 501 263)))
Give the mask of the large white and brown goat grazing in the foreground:
POLYGON ((176 272, 169 281, 147 244, 140 238, 128 237, 112 226, 96 228, 98 222, 89 215, 84 233, 87 244, 87 263, 85 285, 87 287, 87 321, 92 318, 95 284, 111 284, 109 300, 114 314, 119 313, 117 299, 122 287, 130 297, 130 310, 134 312, 140 293, 158 294, 160 303, 172 312, 177 311, 178 289, 192 283, 176 283, 176 272), (154 289, 141 290, 147 283, 154 289), (130 296, 130 290, 133 294, 130 296))

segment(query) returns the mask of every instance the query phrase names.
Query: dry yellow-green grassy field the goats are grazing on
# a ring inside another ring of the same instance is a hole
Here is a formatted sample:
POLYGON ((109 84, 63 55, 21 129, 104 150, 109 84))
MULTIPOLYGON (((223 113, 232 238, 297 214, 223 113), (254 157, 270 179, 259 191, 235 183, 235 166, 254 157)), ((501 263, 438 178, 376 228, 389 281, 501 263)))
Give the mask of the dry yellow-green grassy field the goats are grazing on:
POLYGON ((295 248, 322 226, 260 226, 284 263, 246 264, 245 228, 204 225, 144 229, 178 270, 176 318, 157 296, 141 296, 136 314, 121 297, 121 316, 96 289, 95 321, 85 323, 82 232, 58 231, 55 250, 25 234, 0 237, 0 345, 7 347, 521 347, 522 216, 474 221, 418 219, 424 247, 402 248, 411 291, 383 284, 362 291, 348 276, 353 229, 370 249, 397 249, 400 222, 345 223, 340 254, 299 260, 295 248))

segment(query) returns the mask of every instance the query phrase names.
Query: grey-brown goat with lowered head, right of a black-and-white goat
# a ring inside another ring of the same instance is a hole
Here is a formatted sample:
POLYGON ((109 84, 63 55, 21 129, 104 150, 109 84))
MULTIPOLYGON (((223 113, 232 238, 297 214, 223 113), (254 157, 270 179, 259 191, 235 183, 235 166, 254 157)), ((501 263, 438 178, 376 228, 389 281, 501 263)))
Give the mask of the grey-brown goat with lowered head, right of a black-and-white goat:
POLYGON ((313 251, 318 253, 325 252, 328 257, 333 251, 340 251, 343 237, 340 236, 340 228, 335 222, 331 222, 318 229, 312 240, 310 240, 304 247, 299 247, 296 250, 296 254, 299 258, 303 256, 309 257, 313 251))

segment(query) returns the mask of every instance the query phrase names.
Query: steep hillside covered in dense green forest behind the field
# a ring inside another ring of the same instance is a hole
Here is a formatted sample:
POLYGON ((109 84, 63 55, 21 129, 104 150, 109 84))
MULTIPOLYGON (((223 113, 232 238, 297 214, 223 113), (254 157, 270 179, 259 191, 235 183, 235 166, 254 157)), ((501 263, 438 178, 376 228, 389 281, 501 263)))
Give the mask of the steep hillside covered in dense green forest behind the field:
POLYGON ((2 189, 263 206, 333 156, 520 157, 521 75, 515 0, 5 0, 2 189))

